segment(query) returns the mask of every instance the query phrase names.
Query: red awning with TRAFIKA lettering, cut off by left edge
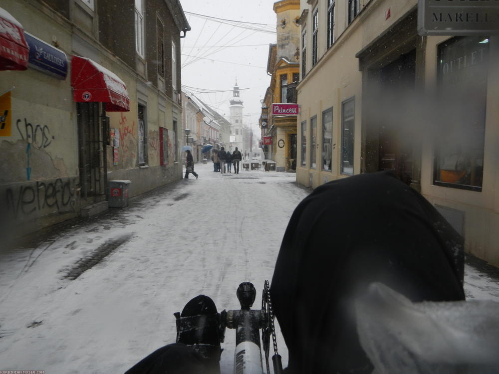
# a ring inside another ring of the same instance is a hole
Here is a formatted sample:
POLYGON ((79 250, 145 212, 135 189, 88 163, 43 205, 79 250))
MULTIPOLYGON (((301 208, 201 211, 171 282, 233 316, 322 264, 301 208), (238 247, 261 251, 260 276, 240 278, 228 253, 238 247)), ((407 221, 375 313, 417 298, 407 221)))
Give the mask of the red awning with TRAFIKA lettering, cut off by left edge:
POLYGON ((22 26, 0 8, 0 70, 26 70, 29 47, 22 26))

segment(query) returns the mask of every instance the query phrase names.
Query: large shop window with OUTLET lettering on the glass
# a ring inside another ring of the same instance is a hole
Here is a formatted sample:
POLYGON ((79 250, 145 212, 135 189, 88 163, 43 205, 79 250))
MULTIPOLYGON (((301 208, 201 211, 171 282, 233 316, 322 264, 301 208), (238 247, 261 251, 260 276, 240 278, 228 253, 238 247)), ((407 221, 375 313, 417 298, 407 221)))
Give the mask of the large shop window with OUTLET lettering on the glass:
POLYGON ((437 186, 482 190, 488 57, 485 36, 455 37, 438 46, 437 186))

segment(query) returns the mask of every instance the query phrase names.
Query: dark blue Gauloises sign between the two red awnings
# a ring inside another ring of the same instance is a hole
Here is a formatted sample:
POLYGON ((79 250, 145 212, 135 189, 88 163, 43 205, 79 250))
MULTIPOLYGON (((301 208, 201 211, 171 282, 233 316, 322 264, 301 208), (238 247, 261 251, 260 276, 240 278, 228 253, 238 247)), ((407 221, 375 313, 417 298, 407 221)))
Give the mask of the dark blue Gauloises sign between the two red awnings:
POLYGON ((28 32, 24 32, 24 37, 29 46, 28 66, 57 79, 66 79, 66 54, 28 32))

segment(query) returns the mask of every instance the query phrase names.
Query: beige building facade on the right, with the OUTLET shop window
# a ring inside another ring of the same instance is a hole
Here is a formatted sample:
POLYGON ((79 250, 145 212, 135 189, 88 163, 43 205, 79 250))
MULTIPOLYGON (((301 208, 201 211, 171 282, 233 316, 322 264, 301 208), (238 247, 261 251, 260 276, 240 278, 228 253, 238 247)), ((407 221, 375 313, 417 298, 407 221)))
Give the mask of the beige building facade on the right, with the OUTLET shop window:
POLYGON ((417 5, 301 1, 296 180, 391 170, 499 266, 499 37, 421 36, 417 5))

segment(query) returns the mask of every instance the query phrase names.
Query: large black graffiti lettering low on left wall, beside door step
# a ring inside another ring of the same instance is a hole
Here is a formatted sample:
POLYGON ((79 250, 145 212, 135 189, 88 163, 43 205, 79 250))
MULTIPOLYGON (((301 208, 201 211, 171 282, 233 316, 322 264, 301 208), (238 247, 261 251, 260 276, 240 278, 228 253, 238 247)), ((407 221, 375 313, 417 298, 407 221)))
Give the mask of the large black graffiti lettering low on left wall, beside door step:
POLYGON ((50 209, 50 212, 75 211, 74 178, 37 181, 3 191, 7 212, 14 218, 23 218, 50 209))

